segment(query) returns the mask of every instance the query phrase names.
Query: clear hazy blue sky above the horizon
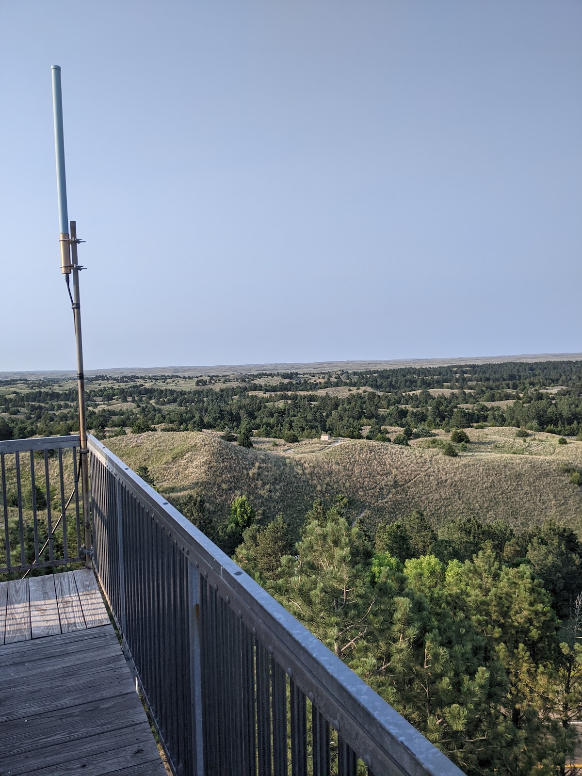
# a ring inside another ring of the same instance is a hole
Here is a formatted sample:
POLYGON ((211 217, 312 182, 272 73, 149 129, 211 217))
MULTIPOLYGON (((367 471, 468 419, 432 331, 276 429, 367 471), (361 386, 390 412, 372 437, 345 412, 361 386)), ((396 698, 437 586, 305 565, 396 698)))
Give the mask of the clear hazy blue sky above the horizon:
POLYGON ((582 350, 580 0, 0 2, 0 369, 582 350))

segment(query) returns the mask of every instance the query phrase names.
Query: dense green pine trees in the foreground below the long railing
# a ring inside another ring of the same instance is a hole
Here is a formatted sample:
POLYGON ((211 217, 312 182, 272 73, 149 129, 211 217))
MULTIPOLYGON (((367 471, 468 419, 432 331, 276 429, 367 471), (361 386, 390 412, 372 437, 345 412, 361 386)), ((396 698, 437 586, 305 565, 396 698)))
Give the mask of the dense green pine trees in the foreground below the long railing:
POLYGON ((236 559, 469 776, 564 773, 582 714, 576 536, 475 518, 435 532, 414 511, 372 540, 348 514, 317 499, 294 547, 282 515, 251 522, 236 559))

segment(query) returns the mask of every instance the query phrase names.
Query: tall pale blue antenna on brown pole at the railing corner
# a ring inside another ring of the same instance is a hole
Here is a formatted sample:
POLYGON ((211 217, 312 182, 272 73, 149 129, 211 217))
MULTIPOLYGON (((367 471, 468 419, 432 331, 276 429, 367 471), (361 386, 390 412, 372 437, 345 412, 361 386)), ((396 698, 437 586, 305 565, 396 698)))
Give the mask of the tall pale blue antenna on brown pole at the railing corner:
MULTIPOLYGON (((73 295, 71 307, 74 315, 74 337, 77 345, 77 381, 79 402, 79 436, 81 437, 81 494, 83 501, 83 521, 85 523, 85 565, 91 567, 92 538, 91 518, 89 515, 89 467, 87 448, 87 418, 85 411, 85 375, 83 374, 83 342, 81 338, 81 299, 79 296, 79 272, 84 267, 78 265, 77 246, 82 240, 77 237, 77 225, 71 221, 69 226, 67 210, 67 181, 64 173, 64 131, 63 131, 63 98, 61 93, 61 67, 58 64, 50 68, 53 77, 53 113, 54 113, 54 148, 57 154, 57 197, 59 205, 61 244, 61 272, 67 281, 69 296, 69 275, 73 275, 73 295), (72 258, 72 260, 71 260, 72 258)), ((66 531, 66 522, 63 522, 66 531)))

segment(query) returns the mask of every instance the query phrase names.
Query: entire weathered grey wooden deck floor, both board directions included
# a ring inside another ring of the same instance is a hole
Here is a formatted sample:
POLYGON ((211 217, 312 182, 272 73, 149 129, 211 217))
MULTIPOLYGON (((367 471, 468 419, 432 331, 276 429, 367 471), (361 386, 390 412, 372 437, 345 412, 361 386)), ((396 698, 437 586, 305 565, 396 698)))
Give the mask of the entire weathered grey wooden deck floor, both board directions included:
POLYGON ((0 776, 165 776, 88 570, 0 584, 0 776))

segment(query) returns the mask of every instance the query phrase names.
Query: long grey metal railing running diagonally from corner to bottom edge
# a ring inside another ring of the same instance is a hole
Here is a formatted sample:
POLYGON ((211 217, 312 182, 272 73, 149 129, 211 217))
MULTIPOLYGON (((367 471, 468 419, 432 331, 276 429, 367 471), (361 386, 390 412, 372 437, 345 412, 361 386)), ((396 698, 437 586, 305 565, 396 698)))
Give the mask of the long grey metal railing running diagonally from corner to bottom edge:
POLYGON ((89 438, 94 563, 179 776, 461 776, 182 514, 89 438))

